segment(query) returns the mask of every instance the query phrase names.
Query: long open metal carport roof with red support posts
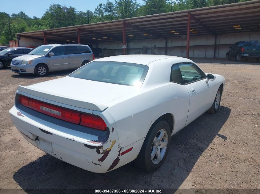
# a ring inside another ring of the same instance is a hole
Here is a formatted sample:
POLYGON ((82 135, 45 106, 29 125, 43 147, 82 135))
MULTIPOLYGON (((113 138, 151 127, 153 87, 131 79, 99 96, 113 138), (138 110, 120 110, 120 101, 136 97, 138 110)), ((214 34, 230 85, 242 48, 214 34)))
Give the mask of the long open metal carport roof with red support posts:
MULTIPOLYGON (((133 17, 114 21, 23 32, 17 37, 48 42, 78 42, 99 44, 122 41, 123 54, 126 42, 134 40, 187 38, 186 57, 189 57, 191 36, 214 35, 214 58, 217 36, 228 33, 260 31, 260 0, 133 17)), ((18 38, 19 45, 19 38, 18 38)))

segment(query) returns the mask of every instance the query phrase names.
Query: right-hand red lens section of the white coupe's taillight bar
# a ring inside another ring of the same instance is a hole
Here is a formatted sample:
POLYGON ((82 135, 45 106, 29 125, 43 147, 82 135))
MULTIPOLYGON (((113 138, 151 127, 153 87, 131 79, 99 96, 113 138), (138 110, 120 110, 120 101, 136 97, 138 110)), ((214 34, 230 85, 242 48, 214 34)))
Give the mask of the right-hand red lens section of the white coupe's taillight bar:
POLYGON ((102 118, 92 116, 92 115, 85 115, 85 114, 80 115, 80 117, 81 117, 80 125, 95 128, 95 129, 100 129, 103 131, 106 130, 106 123, 103 121, 102 118))

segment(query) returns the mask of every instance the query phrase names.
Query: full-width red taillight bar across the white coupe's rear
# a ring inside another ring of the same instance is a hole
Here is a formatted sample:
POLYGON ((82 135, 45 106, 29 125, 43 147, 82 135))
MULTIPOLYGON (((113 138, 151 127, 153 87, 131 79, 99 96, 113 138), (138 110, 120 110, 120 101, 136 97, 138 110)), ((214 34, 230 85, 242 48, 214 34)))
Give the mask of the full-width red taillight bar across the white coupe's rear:
POLYGON ((50 105, 45 102, 34 100, 25 96, 19 97, 20 104, 31 108, 43 114, 55 117, 57 119, 65 120, 70 123, 80 124, 85 127, 90 127, 99 130, 106 130, 105 121, 98 117, 80 112, 71 111, 65 108, 60 108, 55 105, 50 105))

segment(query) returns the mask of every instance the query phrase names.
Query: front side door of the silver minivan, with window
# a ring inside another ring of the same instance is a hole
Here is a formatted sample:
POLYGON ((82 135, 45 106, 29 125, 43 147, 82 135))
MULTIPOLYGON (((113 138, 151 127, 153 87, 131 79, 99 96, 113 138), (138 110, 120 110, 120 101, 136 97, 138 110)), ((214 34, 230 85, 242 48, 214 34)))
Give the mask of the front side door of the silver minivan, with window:
POLYGON ((54 47, 49 54, 46 57, 49 57, 51 71, 66 70, 68 63, 62 46, 54 47), (49 56, 51 52, 54 56, 49 56))

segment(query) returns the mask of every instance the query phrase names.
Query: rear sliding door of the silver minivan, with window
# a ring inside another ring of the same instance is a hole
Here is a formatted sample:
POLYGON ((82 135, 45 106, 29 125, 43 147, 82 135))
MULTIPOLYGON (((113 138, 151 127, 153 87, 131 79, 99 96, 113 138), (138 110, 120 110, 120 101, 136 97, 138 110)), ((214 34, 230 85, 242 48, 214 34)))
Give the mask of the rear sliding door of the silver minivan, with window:
POLYGON ((78 48, 76 45, 66 45, 64 46, 65 54, 66 54, 66 61, 67 69, 76 69, 81 66, 81 55, 78 53, 78 48))

